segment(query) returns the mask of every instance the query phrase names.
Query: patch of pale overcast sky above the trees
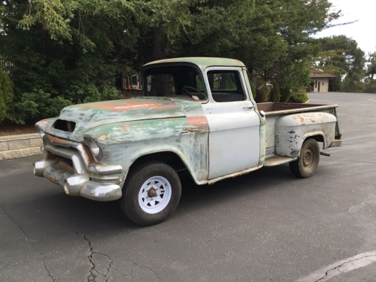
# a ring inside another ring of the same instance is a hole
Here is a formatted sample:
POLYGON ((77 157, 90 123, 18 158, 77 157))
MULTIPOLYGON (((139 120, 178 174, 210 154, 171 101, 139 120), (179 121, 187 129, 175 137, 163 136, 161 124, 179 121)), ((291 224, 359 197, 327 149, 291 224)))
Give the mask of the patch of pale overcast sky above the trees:
POLYGON ((376 0, 329 0, 334 9, 342 10, 343 17, 335 23, 358 20, 345 26, 332 27, 318 33, 316 37, 346 35, 358 42, 358 46, 367 55, 376 51, 376 0))

